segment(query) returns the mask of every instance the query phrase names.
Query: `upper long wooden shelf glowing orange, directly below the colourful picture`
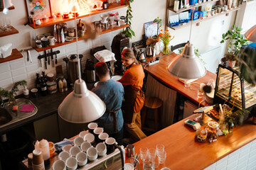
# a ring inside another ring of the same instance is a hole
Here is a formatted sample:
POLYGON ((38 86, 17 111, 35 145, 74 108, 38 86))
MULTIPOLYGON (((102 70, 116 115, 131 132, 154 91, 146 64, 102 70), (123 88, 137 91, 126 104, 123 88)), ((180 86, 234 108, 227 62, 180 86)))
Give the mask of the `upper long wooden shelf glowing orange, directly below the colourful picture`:
MULTIPOLYGON (((84 17, 87 17, 87 16, 93 16, 93 15, 96 15, 96 14, 99 14, 99 13, 104 13, 104 12, 107 12, 107 11, 117 10, 119 8, 125 8, 125 7, 126 7, 125 5, 110 4, 107 9, 101 9, 101 10, 95 9, 94 11, 90 11, 90 12, 78 13, 78 16, 76 18, 79 19, 79 18, 84 18, 84 17)), ((69 18, 62 18, 62 17, 57 17, 55 19, 49 18, 48 22, 46 22, 46 23, 44 23, 42 21, 41 24, 38 25, 38 26, 35 25, 35 24, 29 24, 29 26, 31 26, 34 29, 38 29, 38 28, 43 28, 43 27, 46 27, 46 26, 53 26, 57 23, 63 23, 63 22, 73 21, 73 20, 75 20, 75 17, 73 15, 69 15, 69 18)))

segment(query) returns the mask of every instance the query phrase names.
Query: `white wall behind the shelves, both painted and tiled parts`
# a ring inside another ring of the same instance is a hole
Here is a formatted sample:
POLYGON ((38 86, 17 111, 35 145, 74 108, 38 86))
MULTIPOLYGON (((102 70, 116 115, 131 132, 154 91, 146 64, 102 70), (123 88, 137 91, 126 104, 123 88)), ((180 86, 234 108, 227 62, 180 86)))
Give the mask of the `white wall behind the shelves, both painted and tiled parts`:
MULTIPOLYGON (((36 35, 41 33, 49 33, 53 29, 53 26, 49 26, 46 28, 39 28, 34 30, 30 26, 23 26, 24 23, 28 21, 27 19, 27 9, 25 1, 21 0, 13 0, 13 4, 15 6, 14 10, 9 11, 8 17, 11 18, 11 24, 14 26, 19 33, 15 35, 9 35, 6 37, 0 38, 0 46, 5 45, 8 42, 13 43, 13 47, 18 50, 23 50, 30 47, 30 35, 31 33, 36 33, 36 35)), ((126 8, 122 8, 118 10, 120 15, 125 15, 126 8)), ((161 18, 164 23, 162 28, 164 29, 165 25, 165 16, 166 16, 166 0, 135 0, 132 3, 132 30, 134 30, 136 37, 132 38, 131 42, 142 40, 142 34, 144 34, 144 23, 153 21, 154 18, 161 18)), ((3 17, 3 13, 0 13, 0 17, 3 17)), ((235 12, 230 13, 229 16, 220 16, 215 19, 211 19, 208 21, 204 21, 200 23, 200 26, 193 25, 192 28, 192 36, 191 42, 195 47, 198 48, 199 52, 203 52, 211 48, 210 46, 216 47, 219 44, 220 40, 216 40, 217 43, 210 44, 208 39, 221 38, 221 34, 225 33, 228 29, 233 25, 235 18, 235 12), (211 29, 215 26, 215 22, 222 23, 224 21, 224 25, 220 28, 211 29), (218 29, 218 33, 216 32, 218 29), (213 35, 215 35, 213 37, 213 35)), ((100 16, 90 16, 86 17, 86 20, 100 20, 100 16)), ((68 22, 68 26, 73 26, 73 21, 68 22)), ((171 35, 174 35, 175 38, 171 42, 174 45, 180 42, 186 42, 189 38, 189 26, 186 28, 182 28, 180 30, 171 30, 171 35)), ((89 42, 80 41, 79 51, 84 55, 82 60, 82 70, 85 67, 85 60, 87 57, 90 57, 90 49, 92 47, 97 47, 100 45, 105 45, 110 49, 112 38, 119 33, 119 30, 114 31, 112 33, 107 33, 104 35, 99 35, 97 39, 89 42)), ((65 69, 65 62, 63 62, 63 57, 75 52, 75 43, 70 45, 63 45, 61 47, 56 47, 53 50, 60 50, 60 54, 58 55, 58 64, 63 65, 63 69, 65 69)), ((43 52, 41 52, 42 54, 43 52)), ((220 56, 223 52, 220 52, 220 56)), ((23 53, 23 58, 18 60, 13 60, 11 62, 5 62, 0 64, 0 86, 6 89, 9 89, 13 86, 14 82, 19 81, 21 79, 26 79, 28 81, 28 89, 31 89, 34 86, 35 74, 38 71, 43 70, 43 68, 38 67, 37 57, 39 55, 36 50, 31 51, 33 63, 26 62, 26 52, 23 53)), ((219 56, 219 57, 220 57, 219 56)), ((65 71, 65 70, 64 70, 65 71)), ((55 68, 50 67, 46 70, 46 73, 53 72, 55 73, 55 68)))

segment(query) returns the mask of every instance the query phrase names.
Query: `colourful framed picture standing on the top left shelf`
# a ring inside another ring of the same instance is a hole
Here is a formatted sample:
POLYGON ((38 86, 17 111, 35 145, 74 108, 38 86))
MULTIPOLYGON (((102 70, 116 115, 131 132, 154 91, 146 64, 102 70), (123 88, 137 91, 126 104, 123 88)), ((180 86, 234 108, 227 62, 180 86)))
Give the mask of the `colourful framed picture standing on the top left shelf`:
POLYGON ((49 0, 26 0, 28 16, 33 18, 50 18, 50 1, 49 0))

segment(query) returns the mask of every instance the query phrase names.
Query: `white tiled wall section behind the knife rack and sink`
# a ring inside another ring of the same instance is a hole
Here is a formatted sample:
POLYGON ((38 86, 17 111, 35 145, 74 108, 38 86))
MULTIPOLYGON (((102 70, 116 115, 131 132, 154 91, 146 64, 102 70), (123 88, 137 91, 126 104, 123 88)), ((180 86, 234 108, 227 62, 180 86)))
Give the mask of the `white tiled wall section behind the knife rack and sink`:
MULTIPOLYGON (((120 31, 121 30, 114 30, 110 33, 98 35, 95 40, 88 40, 87 42, 81 40, 78 42, 78 52, 79 54, 82 54, 84 56, 82 57, 82 72, 84 72, 85 62, 87 58, 91 57, 90 49, 92 49, 92 47, 99 47, 101 45, 105 45, 108 50, 111 50, 112 40, 115 35, 120 33, 120 31)), ((68 45, 53 48, 53 51, 56 50, 60 50, 60 54, 57 55, 57 65, 62 65, 63 72, 65 73, 66 64, 63 61, 63 57, 66 57, 73 53, 77 53, 76 43, 74 42, 68 45)), ((22 52, 23 58, 0 64, 0 87, 6 90, 10 90, 16 81, 20 81, 22 79, 28 81, 28 89, 32 89, 35 87, 36 72, 41 73, 43 70, 45 70, 44 59, 41 60, 42 67, 40 67, 37 59, 38 55, 43 55, 43 52, 36 52, 36 50, 30 50, 30 53, 32 63, 27 62, 27 54, 26 52, 22 52)), ((49 72, 55 74, 55 67, 47 65, 47 69, 45 71, 46 74, 48 74, 49 72)), ((21 92, 22 89, 18 91, 17 94, 21 94, 21 92)))

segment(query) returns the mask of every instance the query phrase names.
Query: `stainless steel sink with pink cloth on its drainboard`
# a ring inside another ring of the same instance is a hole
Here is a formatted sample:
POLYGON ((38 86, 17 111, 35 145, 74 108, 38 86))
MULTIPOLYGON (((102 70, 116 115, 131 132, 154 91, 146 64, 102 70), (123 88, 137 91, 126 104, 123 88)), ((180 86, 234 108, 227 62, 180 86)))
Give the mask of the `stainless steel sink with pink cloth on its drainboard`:
POLYGON ((11 125, 18 121, 24 120, 35 115, 38 111, 36 106, 33 108, 32 112, 21 112, 23 105, 32 105, 33 103, 26 98, 16 99, 16 105, 18 106, 18 111, 12 111, 12 107, 9 103, 5 103, 4 108, 0 108, 0 128, 11 125))

